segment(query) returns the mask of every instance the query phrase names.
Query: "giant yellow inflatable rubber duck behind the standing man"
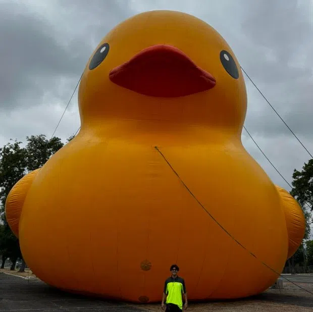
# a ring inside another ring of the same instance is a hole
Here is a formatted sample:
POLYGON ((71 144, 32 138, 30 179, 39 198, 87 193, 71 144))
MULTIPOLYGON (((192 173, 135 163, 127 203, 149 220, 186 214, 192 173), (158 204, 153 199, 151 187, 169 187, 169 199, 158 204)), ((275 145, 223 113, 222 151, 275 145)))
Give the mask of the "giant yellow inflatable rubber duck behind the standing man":
POLYGON ((305 223, 243 147, 246 109, 240 65, 210 25, 152 11, 116 26, 82 75, 79 134, 7 198, 33 273, 133 302, 161 300, 173 263, 189 300, 270 287, 305 223))

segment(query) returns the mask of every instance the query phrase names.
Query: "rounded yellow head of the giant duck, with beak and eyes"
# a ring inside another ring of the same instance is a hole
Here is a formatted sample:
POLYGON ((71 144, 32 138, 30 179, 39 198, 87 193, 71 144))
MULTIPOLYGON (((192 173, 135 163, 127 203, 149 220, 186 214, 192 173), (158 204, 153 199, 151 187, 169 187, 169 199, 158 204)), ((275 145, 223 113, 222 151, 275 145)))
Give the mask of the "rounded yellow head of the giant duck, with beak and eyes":
POLYGON ((82 127, 107 119, 158 120, 241 133, 246 89, 230 46, 188 14, 150 11, 111 30, 79 86, 82 127))

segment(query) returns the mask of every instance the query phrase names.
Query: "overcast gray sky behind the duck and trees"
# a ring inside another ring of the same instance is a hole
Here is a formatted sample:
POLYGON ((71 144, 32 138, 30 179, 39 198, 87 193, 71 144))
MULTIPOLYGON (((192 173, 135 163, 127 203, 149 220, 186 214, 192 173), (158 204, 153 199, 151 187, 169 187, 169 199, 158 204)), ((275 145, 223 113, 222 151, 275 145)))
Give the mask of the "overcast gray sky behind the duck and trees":
MULTIPOLYGON (((93 49, 124 19, 149 10, 195 15, 228 41, 241 66, 313 153, 312 0, 0 0, 0 146, 57 126, 93 49)), ((309 154, 246 79, 245 121, 291 183, 309 154)), ((77 91, 56 135, 80 125, 77 91)), ((272 180, 290 190, 243 130, 243 144, 272 180)))

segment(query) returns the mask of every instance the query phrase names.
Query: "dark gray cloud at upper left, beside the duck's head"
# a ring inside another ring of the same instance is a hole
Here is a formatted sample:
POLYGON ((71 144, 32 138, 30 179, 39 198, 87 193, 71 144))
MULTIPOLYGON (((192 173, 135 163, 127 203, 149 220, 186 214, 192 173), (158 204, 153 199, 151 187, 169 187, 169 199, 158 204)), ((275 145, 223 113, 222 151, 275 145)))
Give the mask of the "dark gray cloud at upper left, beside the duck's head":
POLYGON ((53 36, 53 25, 23 4, 0 6, 1 109, 39 105, 45 92, 58 90, 61 77, 77 76, 77 57, 53 36), (58 79, 59 78, 59 79, 58 79))

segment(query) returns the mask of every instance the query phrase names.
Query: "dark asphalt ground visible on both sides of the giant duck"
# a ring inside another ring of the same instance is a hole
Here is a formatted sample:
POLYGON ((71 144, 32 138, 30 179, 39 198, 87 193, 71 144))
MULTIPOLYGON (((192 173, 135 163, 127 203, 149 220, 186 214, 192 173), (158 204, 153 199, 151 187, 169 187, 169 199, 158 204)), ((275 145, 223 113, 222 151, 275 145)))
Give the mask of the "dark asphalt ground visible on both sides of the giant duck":
MULTIPOLYGON (((313 289, 313 274, 283 275, 284 284, 291 285, 287 293, 282 290, 268 290, 254 297, 254 300, 289 304, 291 306, 313 308, 313 296, 301 294, 295 285, 313 289), (298 294, 297 294, 298 292, 298 294), (304 296, 305 295, 305 296, 304 296)), ((252 299, 252 298, 250 298, 252 299)), ((245 299, 244 299, 245 300, 245 299)), ((244 301, 242 300, 242 301, 244 301)), ((22 279, 0 273, 0 312, 3 311, 147 311, 124 302, 108 301, 70 294, 50 287, 36 278, 22 279)))

